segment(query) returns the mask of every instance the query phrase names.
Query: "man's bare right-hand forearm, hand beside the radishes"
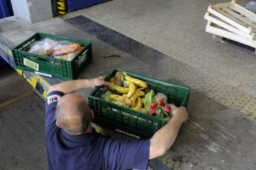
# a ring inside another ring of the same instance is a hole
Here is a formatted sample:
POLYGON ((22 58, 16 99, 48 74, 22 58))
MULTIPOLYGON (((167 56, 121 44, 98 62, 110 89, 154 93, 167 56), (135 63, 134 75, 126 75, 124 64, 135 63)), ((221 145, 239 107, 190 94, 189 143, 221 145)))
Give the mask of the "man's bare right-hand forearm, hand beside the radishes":
POLYGON ((149 159, 164 155, 174 143, 182 123, 188 120, 186 108, 176 108, 172 119, 150 139, 149 159))

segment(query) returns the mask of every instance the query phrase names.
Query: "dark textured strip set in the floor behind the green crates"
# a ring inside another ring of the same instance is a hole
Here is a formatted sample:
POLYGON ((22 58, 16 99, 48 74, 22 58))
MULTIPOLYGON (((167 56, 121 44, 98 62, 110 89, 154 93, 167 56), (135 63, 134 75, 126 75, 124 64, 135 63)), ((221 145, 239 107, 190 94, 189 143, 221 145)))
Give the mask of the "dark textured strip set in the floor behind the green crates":
POLYGON ((141 61, 147 61, 148 64, 162 60, 167 55, 146 46, 134 39, 122 35, 108 27, 92 21, 82 15, 66 19, 68 23, 79 29, 94 35, 97 39, 108 43, 109 45, 135 57, 141 61))

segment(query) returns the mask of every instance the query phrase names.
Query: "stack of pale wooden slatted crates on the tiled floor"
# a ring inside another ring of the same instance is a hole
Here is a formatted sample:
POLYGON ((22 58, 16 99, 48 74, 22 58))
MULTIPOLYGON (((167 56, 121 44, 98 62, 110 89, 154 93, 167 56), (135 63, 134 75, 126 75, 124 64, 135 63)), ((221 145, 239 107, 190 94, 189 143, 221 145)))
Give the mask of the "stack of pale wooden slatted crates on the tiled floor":
POLYGON ((204 19, 208 21, 206 32, 256 48, 256 14, 235 0, 210 5, 204 19))

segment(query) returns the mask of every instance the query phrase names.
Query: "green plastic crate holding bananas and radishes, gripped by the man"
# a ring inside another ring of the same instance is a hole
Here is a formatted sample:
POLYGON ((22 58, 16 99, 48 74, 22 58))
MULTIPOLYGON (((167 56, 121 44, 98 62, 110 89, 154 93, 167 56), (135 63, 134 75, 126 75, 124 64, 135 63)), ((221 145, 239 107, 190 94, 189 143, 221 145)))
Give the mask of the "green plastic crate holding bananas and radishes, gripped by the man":
MULTIPOLYGON (((110 82, 111 78, 118 71, 123 72, 124 70, 113 69, 105 81, 110 82)), ((154 90, 155 93, 166 94, 168 103, 173 103, 178 107, 187 107, 190 94, 189 88, 140 74, 125 72, 131 77, 145 81, 148 84, 148 88, 154 90)), ((103 93, 105 92, 101 90, 101 87, 97 87, 88 95, 88 103, 95 114, 95 119, 92 121, 102 127, 127 133, 127 135, 132 135, 138 139, 148 139, 168 123, 167 120, 102 100, 101 96, 103 93)))

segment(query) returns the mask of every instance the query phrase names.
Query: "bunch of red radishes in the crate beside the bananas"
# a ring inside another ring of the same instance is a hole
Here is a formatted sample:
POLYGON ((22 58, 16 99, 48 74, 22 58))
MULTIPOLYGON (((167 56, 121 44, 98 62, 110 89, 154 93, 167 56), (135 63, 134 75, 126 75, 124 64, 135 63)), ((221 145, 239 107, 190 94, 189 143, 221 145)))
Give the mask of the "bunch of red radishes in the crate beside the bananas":
POLYGON ((151 107, 149 112, 149 115, 151 116, 154 116, 156 114, 157 109, 160 109, 160 112, 161 111, 166 112, 168 116, 170 116, 171 106, 164 103, 164 97, 160 98, 156 103, 149 104, 149 106, 151 107))

